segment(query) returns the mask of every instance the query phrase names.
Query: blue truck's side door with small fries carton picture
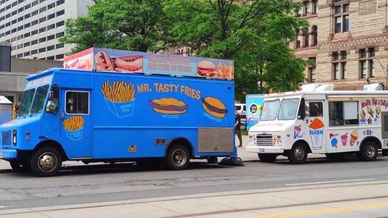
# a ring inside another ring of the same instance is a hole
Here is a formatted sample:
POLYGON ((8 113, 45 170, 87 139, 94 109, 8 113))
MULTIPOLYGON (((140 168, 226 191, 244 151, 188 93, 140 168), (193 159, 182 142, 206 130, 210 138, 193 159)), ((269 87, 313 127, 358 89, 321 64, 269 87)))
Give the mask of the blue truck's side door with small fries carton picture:
POLYGON ((91 90, 62 90, 61 140, 72 159, 92 158, 91 90), (62 115, 63 114, 63 115, 62 115))

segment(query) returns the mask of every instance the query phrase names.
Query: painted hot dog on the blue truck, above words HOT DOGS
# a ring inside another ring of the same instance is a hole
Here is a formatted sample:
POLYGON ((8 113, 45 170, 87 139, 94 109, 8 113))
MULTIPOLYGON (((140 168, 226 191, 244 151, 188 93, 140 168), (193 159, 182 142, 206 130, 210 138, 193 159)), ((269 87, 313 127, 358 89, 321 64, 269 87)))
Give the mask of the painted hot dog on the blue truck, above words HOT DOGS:
POLYGON ((173 99, 163 98, 148 101, 148 104, 158 113, 181 114, 186 113, 189 108, 184 102, 173 99))

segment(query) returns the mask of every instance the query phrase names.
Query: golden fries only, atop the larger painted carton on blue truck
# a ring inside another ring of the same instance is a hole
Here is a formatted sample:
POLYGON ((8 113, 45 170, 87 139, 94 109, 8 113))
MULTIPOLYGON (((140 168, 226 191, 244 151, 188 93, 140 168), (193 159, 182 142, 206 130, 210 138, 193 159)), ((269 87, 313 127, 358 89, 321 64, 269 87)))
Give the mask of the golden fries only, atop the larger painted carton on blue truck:
POLYGON ((111 102, 129 102, 135 98, 135 85, 131 82, 127 84, 125 81, 114 81, 112 87, 107 80, 102 84, 101 92, 111 102))

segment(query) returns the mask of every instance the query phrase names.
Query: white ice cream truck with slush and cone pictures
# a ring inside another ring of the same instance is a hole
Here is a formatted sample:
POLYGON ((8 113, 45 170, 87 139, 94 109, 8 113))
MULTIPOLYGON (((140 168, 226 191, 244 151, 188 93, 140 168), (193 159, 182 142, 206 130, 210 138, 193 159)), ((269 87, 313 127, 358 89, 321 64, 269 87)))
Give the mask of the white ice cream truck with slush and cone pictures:
POLYGON ((307 154, 330 160, 355 154, 373 161, 388 156, 388 91, 382 84, 361 91, 334 91, 333 84, 308 84, 301 91, 264 96, 260 122, 249 129, 247 152, 262 162, 278 155, 302 164, 307 154))

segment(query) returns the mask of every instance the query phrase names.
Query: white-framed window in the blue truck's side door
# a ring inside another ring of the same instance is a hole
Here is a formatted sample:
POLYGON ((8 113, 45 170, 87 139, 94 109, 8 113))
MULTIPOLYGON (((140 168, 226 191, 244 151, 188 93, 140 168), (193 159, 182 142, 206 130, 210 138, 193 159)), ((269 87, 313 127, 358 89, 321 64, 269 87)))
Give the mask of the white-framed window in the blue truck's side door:
POLYGON ((89 114, 89 92, 66 92, 66 113, 89 114))

